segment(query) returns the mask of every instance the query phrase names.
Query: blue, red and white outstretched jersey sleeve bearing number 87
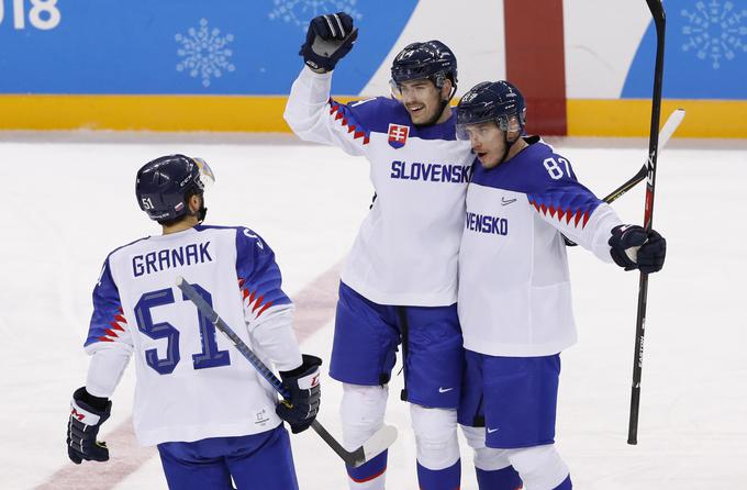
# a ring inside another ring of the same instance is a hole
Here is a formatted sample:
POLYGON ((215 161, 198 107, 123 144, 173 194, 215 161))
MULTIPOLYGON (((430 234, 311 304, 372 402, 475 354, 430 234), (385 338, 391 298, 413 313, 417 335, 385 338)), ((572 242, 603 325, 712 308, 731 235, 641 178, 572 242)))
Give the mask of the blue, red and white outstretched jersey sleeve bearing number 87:
POLYGON ((621 224, 614 210, 581 185, 570 162, 555 153, 533 162, 534 182, 527 199, 543 220, 569 240, 611 261, 607 241, 621 224))

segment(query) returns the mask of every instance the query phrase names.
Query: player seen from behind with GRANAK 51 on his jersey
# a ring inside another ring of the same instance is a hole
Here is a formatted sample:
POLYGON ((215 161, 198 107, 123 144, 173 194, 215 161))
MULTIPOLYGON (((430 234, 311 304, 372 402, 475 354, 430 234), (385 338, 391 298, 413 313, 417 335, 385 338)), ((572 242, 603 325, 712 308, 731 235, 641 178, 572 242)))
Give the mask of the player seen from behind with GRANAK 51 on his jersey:
POLYGON ((301 355, 292 303, 268 244, 242 226, 208 226, 204 160, 169 155, 137 172, 137 202, 163 227, 107 257, 93 289, 85 344, 86 386, 73 394, 67 452, 73 463, 105 461, 98 442, 109 400, 135 358, 135 434, 157 445, 171 489, 298 489, 287 421, 308 428, 320 404, 319 366, 301 355), (291 407, 175 286, 187 281, 280 371, 291 407))

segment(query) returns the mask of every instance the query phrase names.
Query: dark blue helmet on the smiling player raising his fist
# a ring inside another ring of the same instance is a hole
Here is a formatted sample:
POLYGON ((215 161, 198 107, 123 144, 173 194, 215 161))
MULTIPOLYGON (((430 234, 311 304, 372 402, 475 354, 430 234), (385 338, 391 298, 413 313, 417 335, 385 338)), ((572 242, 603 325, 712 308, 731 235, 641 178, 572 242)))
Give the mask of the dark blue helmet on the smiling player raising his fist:
POLYGON ((403 81, 427 78, 442 88, 448 78, 454 85, 451 96, 457 86, 457 58, 451 49, 441 41, 412 43, 405 46, 392 62, 390 85, 394 94, 403 81))

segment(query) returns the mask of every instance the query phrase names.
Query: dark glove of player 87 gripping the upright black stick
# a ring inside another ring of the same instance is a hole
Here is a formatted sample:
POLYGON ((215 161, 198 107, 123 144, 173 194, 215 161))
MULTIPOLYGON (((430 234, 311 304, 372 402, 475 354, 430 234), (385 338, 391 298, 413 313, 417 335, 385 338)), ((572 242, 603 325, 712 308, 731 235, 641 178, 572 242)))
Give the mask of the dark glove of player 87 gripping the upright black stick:
POLYGON ((658 232, 646 232, 642 226, 621 224, 612 229, 610 255, 625 270, 638 269, 644 274, 658 272, 664 267, 667 241, 658 232))

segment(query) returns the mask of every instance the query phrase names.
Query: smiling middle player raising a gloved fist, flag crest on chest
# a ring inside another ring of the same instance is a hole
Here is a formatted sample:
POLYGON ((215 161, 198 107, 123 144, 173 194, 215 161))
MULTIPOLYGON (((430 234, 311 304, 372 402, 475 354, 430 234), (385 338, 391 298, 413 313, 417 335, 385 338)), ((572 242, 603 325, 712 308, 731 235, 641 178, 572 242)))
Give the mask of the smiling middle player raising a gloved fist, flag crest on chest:
MULTIPOLYGON (((464 360, 455 304, 457 257, 475 159, 469 144, 456 140, 449 105, 457 60, 438 41, 410 44, 391 67, 397 99, 343 104, 330 98, 332 70, 356 37, 353 19, 343 12, 311 21, 300 53, 305 67, 285 114, 302 140, 366 157, 376 189, 337 302, 330 376, 343 382, 343 439, 353 449, 383 424, 402 343, 402 398, 410 402, 420 488, 455 490, 464 360)), ((386 468, 386 453, 348 468, 350 488, 382 489, 386 468)))

